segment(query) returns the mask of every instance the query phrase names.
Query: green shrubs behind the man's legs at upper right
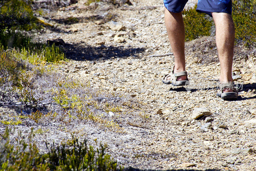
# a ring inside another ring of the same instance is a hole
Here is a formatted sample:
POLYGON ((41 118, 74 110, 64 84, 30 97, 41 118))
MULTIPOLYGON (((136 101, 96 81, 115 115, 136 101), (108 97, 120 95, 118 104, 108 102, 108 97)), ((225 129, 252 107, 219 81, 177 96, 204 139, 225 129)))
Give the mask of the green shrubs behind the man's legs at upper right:
MULTIPOLYGON (((232 4, 232 17, 236 29, 236 41, 247 44, 256 42, 256 0, 234 0, 232 4)), ((209 36, 213 22, 206 14, 196 12, 194 8, 183 11, 186 41, 201 36, 209 36)))

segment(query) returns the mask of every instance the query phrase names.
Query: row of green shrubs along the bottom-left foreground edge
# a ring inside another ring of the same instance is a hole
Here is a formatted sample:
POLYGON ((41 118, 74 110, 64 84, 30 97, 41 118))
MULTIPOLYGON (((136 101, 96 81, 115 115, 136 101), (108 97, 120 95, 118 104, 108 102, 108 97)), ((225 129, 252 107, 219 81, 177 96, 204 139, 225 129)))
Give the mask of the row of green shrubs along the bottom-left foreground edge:
MULTIPOLYGON (((54 144, 45 154, 40 154, 35 143, 32 143, 32 131, 28 144, 24 138, 16 139, 16 145, 10 144, 9 130, 0 136, 0 171, 116 171, 116 161, 105 154, 106 145, 100 145, 96 151, 87 146, 86 140, 78 140, 67 146, 54 144)), ((121 168, 120 168, 121 170, 121 168)))

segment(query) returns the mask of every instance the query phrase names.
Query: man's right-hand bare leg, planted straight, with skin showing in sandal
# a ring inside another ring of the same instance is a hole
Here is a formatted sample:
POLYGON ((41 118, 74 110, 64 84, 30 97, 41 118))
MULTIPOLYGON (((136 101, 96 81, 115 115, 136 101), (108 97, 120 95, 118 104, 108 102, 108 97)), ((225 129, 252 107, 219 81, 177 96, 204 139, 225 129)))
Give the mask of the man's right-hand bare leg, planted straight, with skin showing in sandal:
MULTIPOLYGON (((216 26, 216 45, 220 59, 220 82, 231 82, 235 28, 230 14, 212 12, 216 26)), ((228 88, 224 93, 233 92, 228 88)))

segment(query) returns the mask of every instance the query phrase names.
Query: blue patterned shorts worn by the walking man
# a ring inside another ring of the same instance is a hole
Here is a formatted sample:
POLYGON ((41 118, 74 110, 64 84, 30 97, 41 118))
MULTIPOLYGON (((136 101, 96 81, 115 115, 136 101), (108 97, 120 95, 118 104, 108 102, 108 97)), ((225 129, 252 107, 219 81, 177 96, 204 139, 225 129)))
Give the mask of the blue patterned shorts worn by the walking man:
MULTIPOLYGON (((188 0, 164 0, 168 11, 181 12, 188 0)), ((198 0, 197 12, 204 12, 212 16, 212 12, 232 13, 232 0, 198 0)))

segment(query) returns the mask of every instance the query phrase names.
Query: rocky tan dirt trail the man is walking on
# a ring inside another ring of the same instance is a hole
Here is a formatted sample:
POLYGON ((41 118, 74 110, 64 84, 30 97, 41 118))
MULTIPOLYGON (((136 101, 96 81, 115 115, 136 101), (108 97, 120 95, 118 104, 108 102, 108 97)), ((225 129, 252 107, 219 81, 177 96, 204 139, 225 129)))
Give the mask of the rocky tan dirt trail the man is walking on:
POLYGON ((224 101, 216 97, 220 64, 214 37, 186 42, 189 87, 164 85, 174 57, 162 1, 119 7, 86 2, 44 16, 55 28, 39 36, 66 43, 69 60, 59 72, 103 92, 137 98, 150 116, 146 123, 124 126, 125 133, 88 127, 88 138, 108 143, 118 164, 131 170, 256 170, 255 57, 244 57, 255 47, 236 46, 234 78, 243 87, 238 100, 224 101), (78 22, 67 24, 71 17, 78 22))

